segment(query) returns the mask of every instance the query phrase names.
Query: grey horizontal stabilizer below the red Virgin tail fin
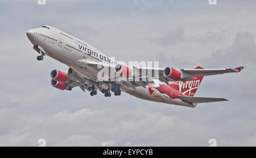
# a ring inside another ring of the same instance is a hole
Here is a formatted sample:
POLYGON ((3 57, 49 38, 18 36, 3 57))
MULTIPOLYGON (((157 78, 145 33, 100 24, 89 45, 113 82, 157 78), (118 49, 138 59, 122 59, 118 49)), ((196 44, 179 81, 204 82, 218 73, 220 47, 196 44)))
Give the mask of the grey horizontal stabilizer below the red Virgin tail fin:
POLYGON ((224 99, 224 98, 209 98, 209 97, 179 96, 179 98, 189 103, 208 103, 208 102, 228 101, 227 99, 224 99))

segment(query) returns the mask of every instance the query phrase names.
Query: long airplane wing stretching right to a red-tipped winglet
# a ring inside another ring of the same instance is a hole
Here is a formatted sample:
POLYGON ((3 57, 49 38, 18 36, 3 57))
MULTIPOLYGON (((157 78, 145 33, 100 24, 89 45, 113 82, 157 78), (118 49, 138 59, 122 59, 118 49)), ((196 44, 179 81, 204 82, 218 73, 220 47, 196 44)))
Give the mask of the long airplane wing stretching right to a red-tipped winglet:
POLYGON ((215 74, 240 72, 243 66, 234 69, 203 69, 197 66, 195 69, 174 69, 174 68, 143 68, 133 66, 132 68, 126 67, 125 65, 117 64, 106 64, 96 62, 88 59, 81 59, 77 61, 81 66, 90 66, 96 70, 102 68, 109 68, 108 81, 115 81, 118 84, 124 85, 128 88, 135 89, 137 86, 143 86, 146 88, 149 84, 154 84, 155 80, 159 80, 168 84, 171 81, 189 81, 193 80, 192 77, 196 76, 209 76, 215 74), (113 73, 111 73, 113 72, 113 73), (127 73, 122 77, 122 80, 116 80, 117 73, 127 73))

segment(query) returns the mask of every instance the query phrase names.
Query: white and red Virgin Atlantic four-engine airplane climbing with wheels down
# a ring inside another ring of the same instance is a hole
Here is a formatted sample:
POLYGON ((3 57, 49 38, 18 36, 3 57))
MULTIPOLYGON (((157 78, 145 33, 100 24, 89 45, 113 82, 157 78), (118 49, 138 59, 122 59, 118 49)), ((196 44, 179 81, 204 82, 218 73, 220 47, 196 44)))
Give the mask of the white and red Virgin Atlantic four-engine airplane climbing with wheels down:
POLYGON ((151 68, 127 66, 106 56, 92 45, 52 26, 32 28, 26 32, 39 53, 37 60, 52 57, 69 66, 68 72, 52 70, 51 85, 60 90, 79 87, 90 95, 101 92, 105 97, 126 92, 134 97, 171 105, 196 107, 197 103, 228 101, 225 98, 194 97, 204 76, 240 72, 244 67, 234 69, 151 68), (108 69, 104 80, 99 73, 108 69))

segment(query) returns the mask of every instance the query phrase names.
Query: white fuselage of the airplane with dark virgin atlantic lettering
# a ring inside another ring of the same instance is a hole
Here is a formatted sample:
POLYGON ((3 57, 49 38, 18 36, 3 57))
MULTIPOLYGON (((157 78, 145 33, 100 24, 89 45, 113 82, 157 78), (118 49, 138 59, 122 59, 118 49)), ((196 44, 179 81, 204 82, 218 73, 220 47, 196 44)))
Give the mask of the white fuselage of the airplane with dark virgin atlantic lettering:
MULTIPOLYGON (((44 50, 46 55, 57 61, 60 61, 76 72, 80 73, 82 76, 93 81, 97 81, 97 70, 90 66, 80 66, 77 61, 86 59, 94 62, 103 62, 108 64, 118 63, 85 41, 77 39, 74 36, 51 26, 28 30, 27 36, 31 43, 33 45, 39 45, 39 47, 44 50)), ((146 88, 140 86, 135 90, 132 88, 122 87, 121 90, 141 99, 195 107, 195 105, 184 102, 179 98, 171 99, 168 96, 163 96, 162 99, 160 99, 159 97, 155 97, 149 93, 148 86, 146 86, 146 88)), ((157 90, 156 93, 158 93, 157 90)), ((159 95, 162 94, 159 93, 159 95)))

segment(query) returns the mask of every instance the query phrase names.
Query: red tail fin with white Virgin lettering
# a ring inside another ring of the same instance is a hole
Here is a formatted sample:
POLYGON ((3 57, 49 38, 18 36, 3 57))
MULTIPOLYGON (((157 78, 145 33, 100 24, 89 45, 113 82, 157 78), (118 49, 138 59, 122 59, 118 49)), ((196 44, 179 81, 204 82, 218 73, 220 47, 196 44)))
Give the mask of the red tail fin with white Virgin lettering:
MULTIPOLYGON (((194 69, 204 69, 201 68, 200 66, 196 66, 194 69)), ((174 81, 171 82, 169 85, 176 89, 179 90, 181 93, 189 95, 189 96, 194 96, 196 93, 197 88, 201 84, 201 81, 203 80, 204 76, 199 76, 199 77, 192 77, 194 80, 191 81, 174 81)))

